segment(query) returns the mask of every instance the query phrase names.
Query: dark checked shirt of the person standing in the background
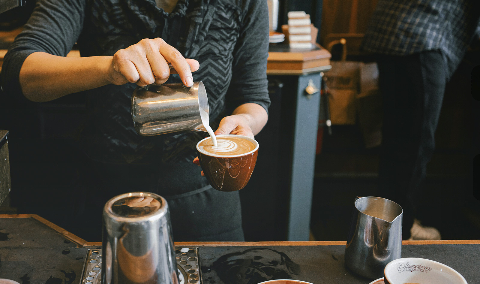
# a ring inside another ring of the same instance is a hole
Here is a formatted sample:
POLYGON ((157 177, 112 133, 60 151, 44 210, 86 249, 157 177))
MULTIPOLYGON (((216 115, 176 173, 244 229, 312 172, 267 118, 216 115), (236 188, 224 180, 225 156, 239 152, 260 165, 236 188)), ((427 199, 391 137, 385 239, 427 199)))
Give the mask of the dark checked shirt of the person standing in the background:
POLYGON ((441 50, 451 76, 479 27, 480 0, 379 0, 364 51, 408 55, 441 50))

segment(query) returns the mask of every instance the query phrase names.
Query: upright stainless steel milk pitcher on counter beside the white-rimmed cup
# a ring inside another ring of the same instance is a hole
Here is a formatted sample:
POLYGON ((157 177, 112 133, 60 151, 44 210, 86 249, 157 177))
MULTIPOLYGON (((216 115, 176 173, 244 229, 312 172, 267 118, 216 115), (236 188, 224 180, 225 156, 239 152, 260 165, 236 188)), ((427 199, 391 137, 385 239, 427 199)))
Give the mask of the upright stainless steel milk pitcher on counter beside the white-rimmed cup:
POLYGON ((402 208, 379 197, 355 201, 345 248, 345 264, 371 279, 384 275, 390 261, 402 257, 402 208))

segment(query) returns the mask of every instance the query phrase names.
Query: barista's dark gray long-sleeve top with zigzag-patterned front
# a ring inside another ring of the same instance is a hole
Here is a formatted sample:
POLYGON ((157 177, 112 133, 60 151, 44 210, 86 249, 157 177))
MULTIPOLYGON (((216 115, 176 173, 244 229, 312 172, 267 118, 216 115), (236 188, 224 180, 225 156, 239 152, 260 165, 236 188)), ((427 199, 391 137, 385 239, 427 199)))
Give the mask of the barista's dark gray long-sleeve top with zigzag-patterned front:
MULTIPOLYGON (((22 96, 20 68, 33 52, 65 56, 77 42, 82 56, 111 56, 155 37, 200 62, 193 80, 204 82, 213 127, 240 104, 268 108, 268 9, 258 0, 180 0, 171 13, 155 0, 39 0, 5 55, 3 90, 22 96)), ((170 76, 170 82, 180 82, 179 76, 170 76)), ((85 92, 92 102, 81 135, 85 153, 111 163, 191 162, 205 134, 139 136, 130 113, 135 87, 107 85, 85 92)))

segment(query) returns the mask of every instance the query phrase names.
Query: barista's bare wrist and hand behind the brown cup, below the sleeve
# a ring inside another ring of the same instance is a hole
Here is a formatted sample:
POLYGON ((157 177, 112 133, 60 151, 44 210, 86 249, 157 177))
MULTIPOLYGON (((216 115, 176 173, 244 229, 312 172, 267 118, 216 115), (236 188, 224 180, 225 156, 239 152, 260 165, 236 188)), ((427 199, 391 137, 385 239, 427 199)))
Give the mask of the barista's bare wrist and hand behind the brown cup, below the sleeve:
POLYGON ((220 121, 215 135, 238 134, 253 138, 267 123, 268 114, 256 103, 245 103, 220 121))

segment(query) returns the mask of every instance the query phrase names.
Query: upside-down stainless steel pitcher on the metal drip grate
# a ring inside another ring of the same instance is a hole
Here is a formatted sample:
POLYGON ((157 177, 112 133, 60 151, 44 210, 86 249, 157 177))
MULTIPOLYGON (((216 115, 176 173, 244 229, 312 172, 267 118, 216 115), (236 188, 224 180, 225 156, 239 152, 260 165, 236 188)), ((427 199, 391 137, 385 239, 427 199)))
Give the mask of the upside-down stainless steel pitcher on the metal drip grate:
POLYGON ((103 211, 102 284, 178 284, 167 201, 132 192, 103 211))

